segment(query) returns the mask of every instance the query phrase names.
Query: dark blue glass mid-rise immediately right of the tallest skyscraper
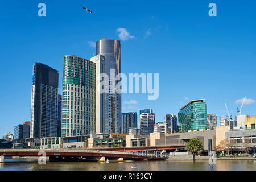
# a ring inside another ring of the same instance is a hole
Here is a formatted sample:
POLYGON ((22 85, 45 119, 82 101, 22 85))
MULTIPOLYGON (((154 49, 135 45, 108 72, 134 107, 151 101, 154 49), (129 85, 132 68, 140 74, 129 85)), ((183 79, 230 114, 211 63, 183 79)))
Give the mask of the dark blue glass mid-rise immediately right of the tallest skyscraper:
POLYGON ((129 128, 137 129, 137 113, 122 113, 121 133, 129 134, 129 128))

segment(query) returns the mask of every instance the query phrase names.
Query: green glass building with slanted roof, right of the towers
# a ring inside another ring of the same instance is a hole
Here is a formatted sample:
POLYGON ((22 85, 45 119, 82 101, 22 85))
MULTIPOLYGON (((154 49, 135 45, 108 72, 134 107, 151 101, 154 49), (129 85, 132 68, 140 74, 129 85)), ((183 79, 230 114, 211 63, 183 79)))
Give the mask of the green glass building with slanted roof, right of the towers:
POLYGON ((204 129, 207 127, 207 105, 204 99, 193 100, 181 107, 179 114, 179 130, 204 129))

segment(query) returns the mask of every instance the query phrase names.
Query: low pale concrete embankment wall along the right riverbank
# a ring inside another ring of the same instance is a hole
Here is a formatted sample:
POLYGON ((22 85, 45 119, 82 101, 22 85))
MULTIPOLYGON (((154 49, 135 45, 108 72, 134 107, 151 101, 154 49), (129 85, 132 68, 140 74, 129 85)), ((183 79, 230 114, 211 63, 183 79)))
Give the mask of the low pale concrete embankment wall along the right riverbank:
MULTIPOLYGON (((209 160, 209 156, 196 156, 196 160, 209 160)), ((169 155, 169 158, 167 160, 193 160, 193 155, 169 155)), ((248 158, 248 157, 236 157, 236 158, 230 158, 230 157, 221 157, 217 158, 217 160, 256 160, 256 158, 248 158)))

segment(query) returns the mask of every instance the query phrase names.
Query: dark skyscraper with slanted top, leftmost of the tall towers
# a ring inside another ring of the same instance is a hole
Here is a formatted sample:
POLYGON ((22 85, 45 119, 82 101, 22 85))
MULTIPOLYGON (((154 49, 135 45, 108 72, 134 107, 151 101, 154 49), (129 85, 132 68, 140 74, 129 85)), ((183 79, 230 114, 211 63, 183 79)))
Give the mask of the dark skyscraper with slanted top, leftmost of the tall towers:
POLYGON ((31 138, 56 137, 59 71, 33 65, 31 96, 31 138))

